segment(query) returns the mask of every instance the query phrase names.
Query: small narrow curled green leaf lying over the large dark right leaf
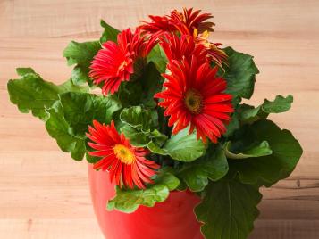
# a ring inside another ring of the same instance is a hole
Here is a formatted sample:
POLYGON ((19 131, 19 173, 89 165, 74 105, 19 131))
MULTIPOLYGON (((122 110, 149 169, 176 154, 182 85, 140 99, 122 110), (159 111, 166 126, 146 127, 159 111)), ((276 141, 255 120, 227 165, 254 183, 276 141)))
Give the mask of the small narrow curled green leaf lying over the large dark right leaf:
POLYGON ((232 152, 231 150, 231 141, 229 141, 225 145, 225 154, 228 159, 247 159, 247 158, 256 158, 262 157, 272 154, 273 151, 271 150, 267 141, 263 141, 260 144, 250 145, 248 149, 245 149, 243 152, 232 152))

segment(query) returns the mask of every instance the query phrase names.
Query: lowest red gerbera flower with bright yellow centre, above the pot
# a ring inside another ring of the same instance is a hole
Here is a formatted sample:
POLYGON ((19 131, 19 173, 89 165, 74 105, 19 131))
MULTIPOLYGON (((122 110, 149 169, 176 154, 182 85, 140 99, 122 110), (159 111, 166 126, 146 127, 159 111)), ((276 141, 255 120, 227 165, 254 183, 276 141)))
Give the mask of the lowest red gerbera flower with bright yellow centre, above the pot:
POLYGON ((94 143, 88 142, 88 145, 97 151, 88 154, 102 157, 94 164, 94 169, 108 170, 111 182, 115 179, 120 186, 145 188, 145 183, 153 183, 150 177, 159 166, 146 159, 147 150, 132 146, 123 134, 119 135, 113 121, 105 126, 94 120, 93 125, 94 128, 88 127, 87 136, 94 143))

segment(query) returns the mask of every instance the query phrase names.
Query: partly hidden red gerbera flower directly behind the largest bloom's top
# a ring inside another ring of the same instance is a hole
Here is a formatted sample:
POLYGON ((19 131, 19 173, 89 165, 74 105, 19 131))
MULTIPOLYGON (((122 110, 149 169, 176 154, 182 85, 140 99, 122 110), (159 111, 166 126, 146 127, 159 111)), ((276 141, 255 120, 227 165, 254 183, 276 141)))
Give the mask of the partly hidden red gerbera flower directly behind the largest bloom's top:
POLYGON ((194 38, 189 35, 178 37, 172 33, 165 33, 160 39, 160 45, 170 61, 180 60, 183 56, 190 60, 192 55, 196 55, 197 60, 202 62, 207 58, 206 47, 196 44, 194 38))

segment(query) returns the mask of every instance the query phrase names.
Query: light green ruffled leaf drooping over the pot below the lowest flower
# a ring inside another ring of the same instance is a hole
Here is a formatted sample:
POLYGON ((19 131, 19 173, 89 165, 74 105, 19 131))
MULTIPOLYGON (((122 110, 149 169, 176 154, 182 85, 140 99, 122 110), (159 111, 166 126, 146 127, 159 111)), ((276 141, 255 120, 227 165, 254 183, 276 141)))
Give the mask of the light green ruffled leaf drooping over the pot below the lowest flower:
POLYGON ((131 213, 139 208, 139 205, 153 207, 156 202, 164 202, 170 191, 180 185, 180 180, 169 172, 159 174, 155 178, 154 185, 148 185, 147 189, 121 190, 116 186, 116 196, 107 203, 107 210, 120 210, 131 213))

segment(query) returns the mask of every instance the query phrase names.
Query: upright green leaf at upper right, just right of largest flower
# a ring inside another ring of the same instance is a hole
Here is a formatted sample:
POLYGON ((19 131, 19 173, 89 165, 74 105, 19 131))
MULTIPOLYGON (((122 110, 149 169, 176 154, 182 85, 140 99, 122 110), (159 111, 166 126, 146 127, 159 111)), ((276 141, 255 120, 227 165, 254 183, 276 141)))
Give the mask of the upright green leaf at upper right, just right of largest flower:
POLYGON ((254 92, 256 68, 253 56, 236 52, 231 47, 223 49, 228 55, 228 66, 225 66, 223 78, 227 81, 226 92, 234 98, 242 97, 249 99, 254 92))

